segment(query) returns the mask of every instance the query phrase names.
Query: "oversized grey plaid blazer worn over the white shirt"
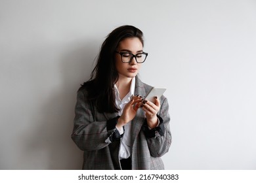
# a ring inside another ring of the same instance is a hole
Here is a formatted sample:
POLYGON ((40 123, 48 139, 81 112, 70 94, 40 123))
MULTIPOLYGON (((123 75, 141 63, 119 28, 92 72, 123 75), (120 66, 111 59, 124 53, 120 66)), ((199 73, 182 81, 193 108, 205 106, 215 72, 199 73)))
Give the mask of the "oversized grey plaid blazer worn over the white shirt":
MULTIPOLYGON (((145 96, 152 88, 136 79, 135 94, 145 96)), ((171 145, 169 130, 169 105, 167 98, 160 98, 161 108, 158 115, 163 119, 164 134, 156 131, 154 137, 148 138, 142 130, 145 120, 144 111, 139 108, 131 122, 131 163, 132 169, 164 169, 161 156, 167 153, 171 145)), ((99 113, 95 105, 87 100, 87 90, 77 92, 75 119, 72 139, 83 150, 83 169, 121 169, 119 161, 120 141, 109 141, 110 131, 106 127, 108 120, 117 113, 99 113)))

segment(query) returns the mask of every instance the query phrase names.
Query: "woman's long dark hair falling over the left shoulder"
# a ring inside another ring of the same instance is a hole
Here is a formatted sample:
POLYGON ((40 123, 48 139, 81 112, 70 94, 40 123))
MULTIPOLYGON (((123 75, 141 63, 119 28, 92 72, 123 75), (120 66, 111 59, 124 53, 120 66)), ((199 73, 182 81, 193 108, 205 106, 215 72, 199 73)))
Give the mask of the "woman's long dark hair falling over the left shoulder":
POLYGON ((137 37, 144 46, 143 33, 132 25, 123 25, 112 31, 102 43, 95 68, 89 81, 83 84, 87 87, 88 99, 93 101, 98 112, 117 112, 114 84, 118 80, 118 73, 114 54, 119 42, 126 38, 137 37))

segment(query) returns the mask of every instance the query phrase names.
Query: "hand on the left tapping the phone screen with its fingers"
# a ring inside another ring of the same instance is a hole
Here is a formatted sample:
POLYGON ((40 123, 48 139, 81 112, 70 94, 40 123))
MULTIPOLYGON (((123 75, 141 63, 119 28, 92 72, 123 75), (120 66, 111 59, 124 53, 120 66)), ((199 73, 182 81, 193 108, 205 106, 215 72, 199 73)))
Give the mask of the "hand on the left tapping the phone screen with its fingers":
POLYGON ((142 98, 140 96, 134 96, 131 101, 125 105, 123 108, 123 114, 121 114, 120 118, 117 120, 116 127, 118 129, 121 129, 121 127, 135 118, 141 101, 142 98))

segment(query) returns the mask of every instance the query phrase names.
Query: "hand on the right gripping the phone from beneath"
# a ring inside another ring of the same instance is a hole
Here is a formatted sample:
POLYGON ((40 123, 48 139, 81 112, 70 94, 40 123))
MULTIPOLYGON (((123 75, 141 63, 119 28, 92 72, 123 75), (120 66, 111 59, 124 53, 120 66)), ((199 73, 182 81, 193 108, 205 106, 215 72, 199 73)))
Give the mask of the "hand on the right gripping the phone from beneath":
POLYGON ((145 100, 140 107, 146 112, 148 127, 151 129, 156 127, 158 125, 158 117, 156 114, 158 114, 158 111, 160 110, 160 100, 157 97, 155 97, 154 103, 145 100))

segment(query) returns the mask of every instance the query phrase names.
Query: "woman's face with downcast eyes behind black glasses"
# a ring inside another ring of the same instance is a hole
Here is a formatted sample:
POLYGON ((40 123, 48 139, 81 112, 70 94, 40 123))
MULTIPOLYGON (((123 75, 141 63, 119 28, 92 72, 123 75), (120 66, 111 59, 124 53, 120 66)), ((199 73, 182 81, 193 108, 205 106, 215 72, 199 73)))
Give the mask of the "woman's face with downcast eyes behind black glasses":
MULTIPOLYGON (((137 37, 131 37, 124 39, 119 42, 119 46, 117 47, 117 52, 129 52, 131 54, 142 53, 143 46, 140 39, 137 37)), ((120 54, 116 53, 116 69, 119 74, 119 78, 133 78, 139 73, 139 69, 142 63, 137 63, 135 58, 132 59, 129 63, 123 63, 121 61, 120 54)))

